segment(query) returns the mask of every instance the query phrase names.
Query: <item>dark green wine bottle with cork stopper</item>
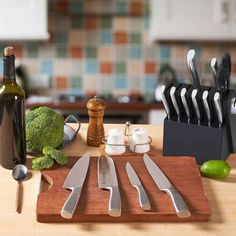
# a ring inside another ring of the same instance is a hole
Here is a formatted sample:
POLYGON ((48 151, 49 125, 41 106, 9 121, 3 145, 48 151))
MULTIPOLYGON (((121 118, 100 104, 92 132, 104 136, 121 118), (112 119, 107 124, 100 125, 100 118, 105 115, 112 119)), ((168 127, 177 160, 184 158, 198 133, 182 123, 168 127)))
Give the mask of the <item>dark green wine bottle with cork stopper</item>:
POLYGON ((24 90, 15 78, 14 49, 6 47, 0 85, 0 164, 7 169, 26 162, 24 101, 24 90))

